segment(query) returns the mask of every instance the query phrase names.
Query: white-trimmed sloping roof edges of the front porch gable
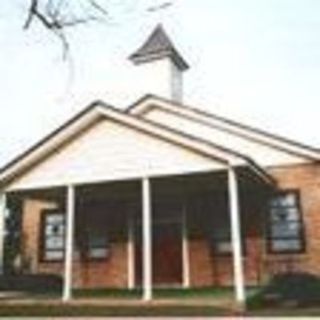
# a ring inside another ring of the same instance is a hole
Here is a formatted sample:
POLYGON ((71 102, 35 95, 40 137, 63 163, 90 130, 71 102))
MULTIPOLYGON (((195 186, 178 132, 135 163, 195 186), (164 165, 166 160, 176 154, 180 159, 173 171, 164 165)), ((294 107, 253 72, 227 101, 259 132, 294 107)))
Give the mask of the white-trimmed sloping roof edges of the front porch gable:
POLYGON ((91 104, 52 134, 3 167, 0 170, 0 186, 5 188, 14 179, 27 174, 31 169, 43 162, 43 160, 54 155, 61 146, 65 146, 69 141, 77 139, 83 131, 93 126, 100 119, 108 119, 115 123, 120 123, 155 139, 188 149, 192 153, 225 166, 247 165, 263 176, 266 181, 270 182, 270 177, 264 173, 263 169, 245 155, 206 141, 205 139, 167 128, 161 124, 155 124, 146 119, 140 119, 98 101, 91 104))

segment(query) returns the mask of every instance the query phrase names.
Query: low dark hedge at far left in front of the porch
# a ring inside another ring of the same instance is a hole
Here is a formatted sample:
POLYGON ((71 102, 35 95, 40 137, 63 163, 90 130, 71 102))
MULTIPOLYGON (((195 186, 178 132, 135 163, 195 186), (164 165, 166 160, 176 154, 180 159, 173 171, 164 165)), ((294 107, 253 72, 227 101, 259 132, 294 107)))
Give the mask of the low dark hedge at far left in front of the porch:
POLYGON ((57 292, 62 289, 62 279, 58 275, 1 275, 0 291, 57 292))

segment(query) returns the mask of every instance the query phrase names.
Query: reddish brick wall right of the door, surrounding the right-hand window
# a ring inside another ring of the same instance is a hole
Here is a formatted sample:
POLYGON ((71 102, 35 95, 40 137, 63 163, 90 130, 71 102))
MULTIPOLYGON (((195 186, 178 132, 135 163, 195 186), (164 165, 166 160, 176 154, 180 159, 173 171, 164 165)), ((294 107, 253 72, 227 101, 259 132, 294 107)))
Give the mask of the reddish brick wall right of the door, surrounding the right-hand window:
MULTIPOLYGON (((244 256, 247 284, 259 284, 279 271, 307 271, 320 276, 320 166, 315 164, 270 168, 279 189, 299 189, 306 236, 302 254, 270 254, 266 240, 255 221, 254 212, 245 223, 246 254, 244 256)), ((190 240, 190 271, 193 286, 231 285, 232 259, 213 256, 204 237, 190 240)))

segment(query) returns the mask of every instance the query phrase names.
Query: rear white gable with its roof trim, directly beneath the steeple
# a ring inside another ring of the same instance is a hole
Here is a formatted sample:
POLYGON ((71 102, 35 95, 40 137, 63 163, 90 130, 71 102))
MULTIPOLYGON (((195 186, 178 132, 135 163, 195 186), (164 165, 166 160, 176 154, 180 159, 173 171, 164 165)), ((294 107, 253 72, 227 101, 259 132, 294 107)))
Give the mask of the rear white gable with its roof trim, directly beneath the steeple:
MULTIPOLYGON (((320 149, 155 95, 146 95, 129 107, 127 112, 150 119, 153 122, 166 123, 169 127, 182 126, 184 132, 194 134, 197 137, 205 136, 204 138, 211 142, 220 144, 223 142, 224 146, 242 154, 246 153, 251 159, 263 166, 270 165, 268 162, 261 161, 265 156, 268 156, 268 152, 270 152, 270 156, 271 153, 286 155, 286 157, 282 157, 284 163, 288 162, 288 164, 293 159, 300 162, 320 161, 320 149), (159 111, 165 112, 169 117, 161 118, 159 111), (173 120, 174 118, 176 122, 173 120), (195 128, 196 126, 197 130, 192 130, 191 127, 195 128), (211 136, 206 134, 210 130, 211 136), (263 152, 260 152, 261 156, 257 158, 258 153, 255 154, 257 150, 255 146, 260 146, 260 149, 263 149, 263 152)), ((274 165, 278 165, 277 160, 274 165)))

